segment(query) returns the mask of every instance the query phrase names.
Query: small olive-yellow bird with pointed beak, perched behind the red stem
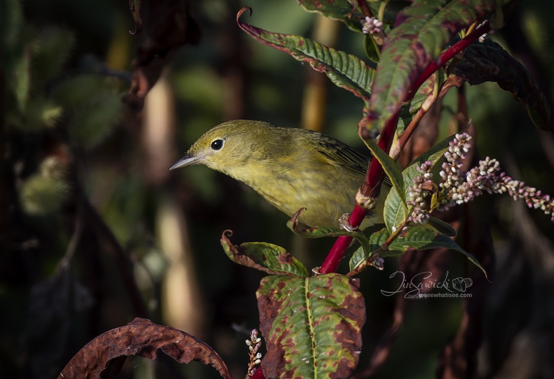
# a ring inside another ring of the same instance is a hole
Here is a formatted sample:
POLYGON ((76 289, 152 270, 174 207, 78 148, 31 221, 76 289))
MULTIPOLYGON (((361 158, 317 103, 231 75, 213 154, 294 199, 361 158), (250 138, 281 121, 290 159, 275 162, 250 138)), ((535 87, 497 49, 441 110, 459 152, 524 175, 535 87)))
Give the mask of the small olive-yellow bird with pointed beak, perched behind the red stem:
MULTIPOLYGON (((325 134, 234 120, 204 133, 171 170, 206 165, 249 185, 289 216, 306 207, 299 218, 306 225, 338 227, 352 210, 370 159, 325 134)), ((376 217, 381 209, 362 227, 382 222, 376 217)))

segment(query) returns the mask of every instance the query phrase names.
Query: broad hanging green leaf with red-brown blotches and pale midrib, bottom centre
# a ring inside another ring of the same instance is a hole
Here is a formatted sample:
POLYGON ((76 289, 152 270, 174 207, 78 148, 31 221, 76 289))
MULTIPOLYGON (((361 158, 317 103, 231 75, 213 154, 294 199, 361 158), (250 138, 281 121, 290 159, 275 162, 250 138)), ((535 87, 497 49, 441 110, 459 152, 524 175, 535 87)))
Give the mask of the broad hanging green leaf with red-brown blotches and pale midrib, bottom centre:
POLYGON ((339 274, 269 276, 256 293, 266 378, 348 378, 366 319, 359 281, 339 274))

